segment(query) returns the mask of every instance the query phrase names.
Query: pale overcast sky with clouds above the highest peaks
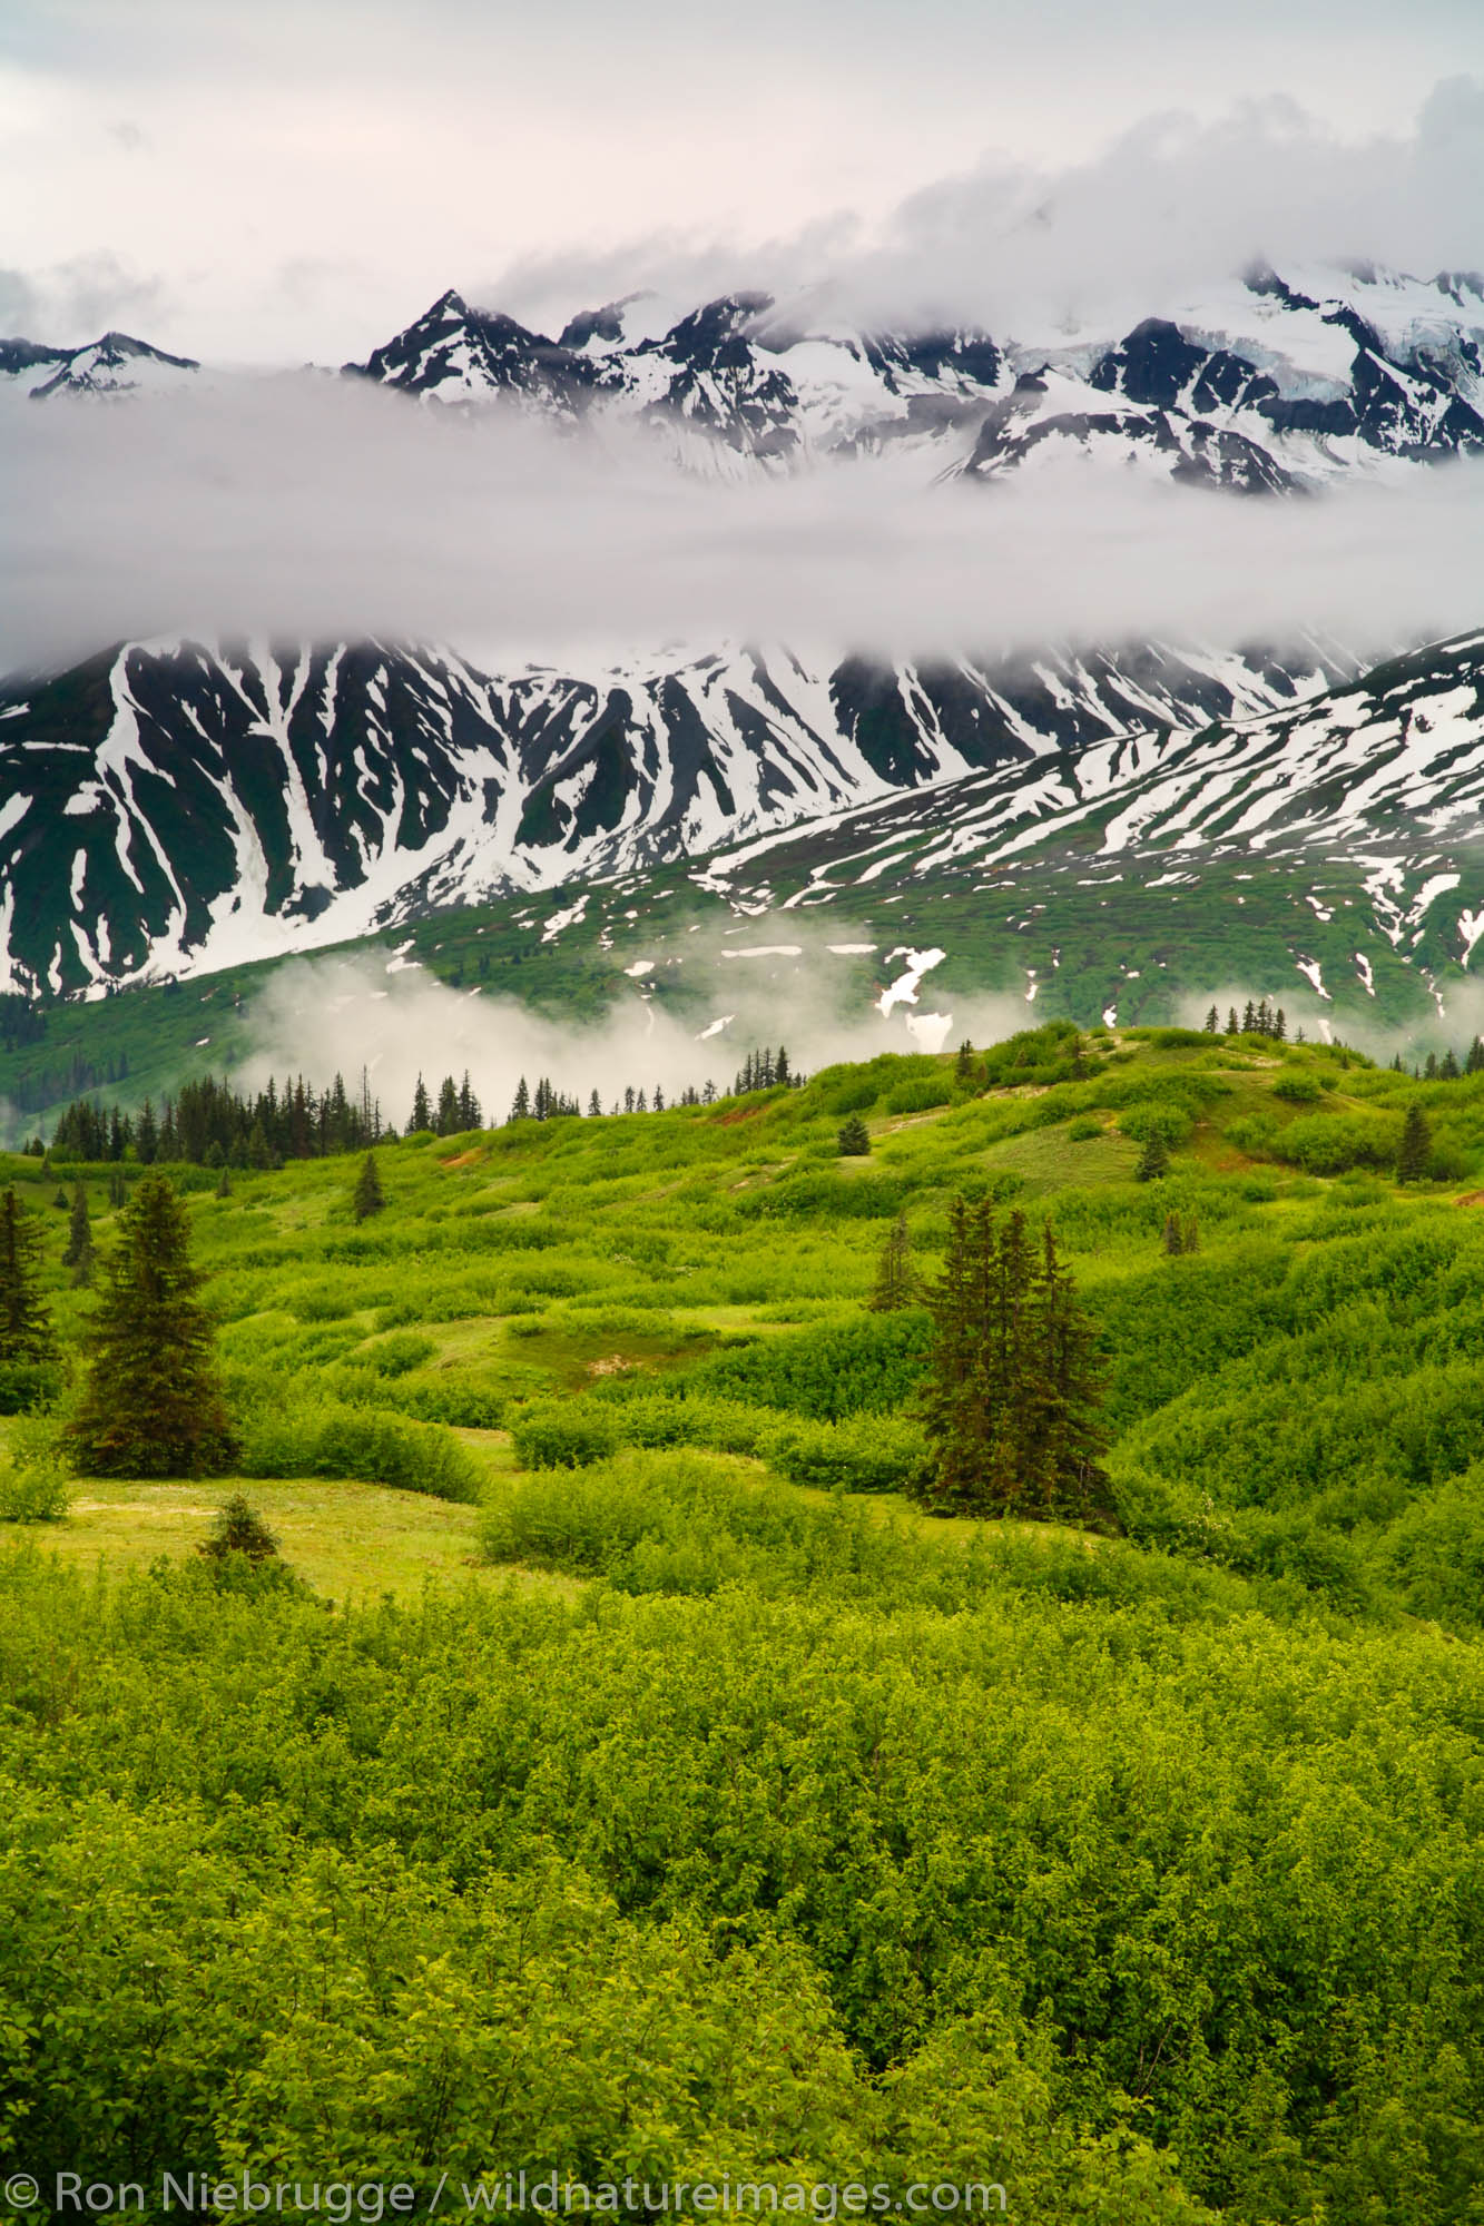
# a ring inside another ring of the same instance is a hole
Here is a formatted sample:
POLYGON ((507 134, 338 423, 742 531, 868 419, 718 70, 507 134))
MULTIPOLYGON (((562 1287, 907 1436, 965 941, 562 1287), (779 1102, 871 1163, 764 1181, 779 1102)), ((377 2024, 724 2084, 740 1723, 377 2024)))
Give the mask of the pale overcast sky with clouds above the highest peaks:
POLYGON ((1027 211, 1477 263, 1471 78, 1480 0, 4 0, 0 332, 334 363, 450 283, 989 283, 1027 211))

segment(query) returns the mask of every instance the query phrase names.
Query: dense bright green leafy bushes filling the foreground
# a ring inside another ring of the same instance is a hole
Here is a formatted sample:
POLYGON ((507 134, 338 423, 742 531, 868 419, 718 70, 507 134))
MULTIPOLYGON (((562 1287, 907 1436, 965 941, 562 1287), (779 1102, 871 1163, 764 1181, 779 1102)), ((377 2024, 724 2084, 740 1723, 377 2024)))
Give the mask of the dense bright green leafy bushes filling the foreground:
POLYGON ((911 1605, 940 1552, 693 1460, 526 1480, 575 1609, 0 1560, 11 2155, 1464 2226, 1464 1649, 969 1554, 911 1605))

